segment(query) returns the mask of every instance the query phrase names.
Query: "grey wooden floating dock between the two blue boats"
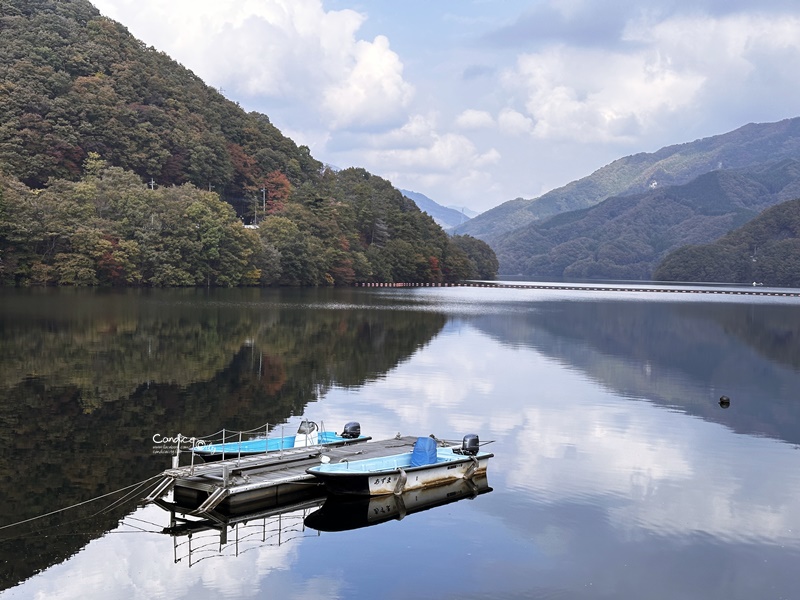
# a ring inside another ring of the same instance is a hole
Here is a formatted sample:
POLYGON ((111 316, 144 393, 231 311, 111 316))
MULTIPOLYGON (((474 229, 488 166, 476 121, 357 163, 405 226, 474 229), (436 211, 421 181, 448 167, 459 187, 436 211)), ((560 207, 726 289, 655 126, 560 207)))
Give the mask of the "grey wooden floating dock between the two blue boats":
POLYGON ((254 506, 280 505, 308 497, 311 488, 321 488, 306 469, 320 463, 379 458, 410 452, 416 436, 388 440, 359 441, 341 446, 309 446, 256 456, 167 469, 145 498, 170 511, 214 517, 250 512, 254 506), (172 492, 173 502, 162 498, 172 492))

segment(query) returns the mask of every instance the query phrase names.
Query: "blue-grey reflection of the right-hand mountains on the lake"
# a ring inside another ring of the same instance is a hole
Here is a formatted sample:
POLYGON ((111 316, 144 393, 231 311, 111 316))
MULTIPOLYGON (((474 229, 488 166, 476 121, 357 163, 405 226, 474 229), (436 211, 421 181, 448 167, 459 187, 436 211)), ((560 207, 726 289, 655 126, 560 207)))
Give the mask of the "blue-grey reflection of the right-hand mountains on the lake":
POLYGON ((490 314, 473 324, 621 396, 800 442, 796 303, 550 302, 513 319, 490 314), (721 396, 732 410, 719 410, 721 396))

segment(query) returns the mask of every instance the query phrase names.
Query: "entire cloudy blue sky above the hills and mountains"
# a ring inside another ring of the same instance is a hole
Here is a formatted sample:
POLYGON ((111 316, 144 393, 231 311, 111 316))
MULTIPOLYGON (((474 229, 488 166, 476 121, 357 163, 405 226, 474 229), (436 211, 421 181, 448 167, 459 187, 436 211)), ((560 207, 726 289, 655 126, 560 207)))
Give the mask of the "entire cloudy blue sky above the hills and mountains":
POLYGON ((336 168, 486 211, 800 116, 794 0, 94 0, 336 168))

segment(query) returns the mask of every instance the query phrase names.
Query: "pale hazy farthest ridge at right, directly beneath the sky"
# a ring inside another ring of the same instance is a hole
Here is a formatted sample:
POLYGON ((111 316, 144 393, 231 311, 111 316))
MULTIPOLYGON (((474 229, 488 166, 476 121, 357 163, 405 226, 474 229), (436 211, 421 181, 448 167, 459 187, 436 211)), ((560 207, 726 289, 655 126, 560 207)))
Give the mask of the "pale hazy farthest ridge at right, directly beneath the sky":
MULTIPOLYGON (((473 235, 494 247, 515 229, 558 213, 594 206, 612 196, 681 185, 713 170, 784 158, 800 159, 800 118, 751 123, 722 135, 627 156, 538 198, 505 202, 454 231, 473 235)), ((500 264, 501 270, 508 272, 502 258, 500 264)))

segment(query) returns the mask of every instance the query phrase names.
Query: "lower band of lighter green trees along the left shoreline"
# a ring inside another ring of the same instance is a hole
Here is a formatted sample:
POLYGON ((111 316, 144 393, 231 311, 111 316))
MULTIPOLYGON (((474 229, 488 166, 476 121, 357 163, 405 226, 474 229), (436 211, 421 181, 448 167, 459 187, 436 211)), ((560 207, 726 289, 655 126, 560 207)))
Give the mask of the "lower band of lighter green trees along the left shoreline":
POLYGON ((484 242, 449 237, 363 169, 285 191, 246 229, 213 192, 149 189, 97 155, 79 181, 51 179, 42 190, 0 177, 0 284, 351 285, 497 271, 484 242))

